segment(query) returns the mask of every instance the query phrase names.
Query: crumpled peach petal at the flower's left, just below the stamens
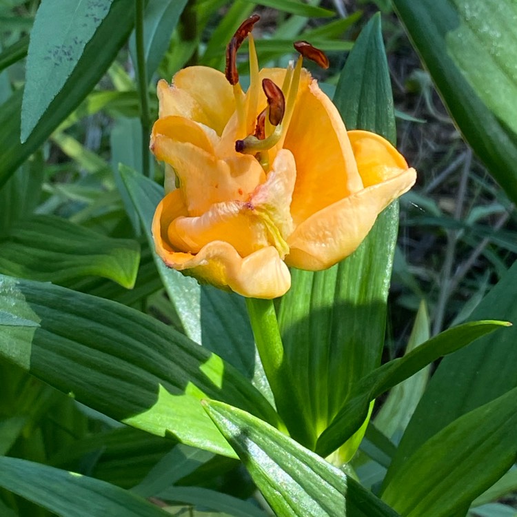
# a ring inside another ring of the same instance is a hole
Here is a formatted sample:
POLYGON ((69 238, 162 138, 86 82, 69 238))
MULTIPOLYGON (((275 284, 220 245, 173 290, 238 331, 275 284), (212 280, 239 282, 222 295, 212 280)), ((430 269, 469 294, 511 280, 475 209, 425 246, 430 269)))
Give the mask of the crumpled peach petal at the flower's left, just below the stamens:
POLYGON ((250 155, 220 160, 192 143, 161 134, 154 138, 153 152, 174 168, 190 216, 201 216, 214 203, 247 201, 265 181, 261 165, 250 155))

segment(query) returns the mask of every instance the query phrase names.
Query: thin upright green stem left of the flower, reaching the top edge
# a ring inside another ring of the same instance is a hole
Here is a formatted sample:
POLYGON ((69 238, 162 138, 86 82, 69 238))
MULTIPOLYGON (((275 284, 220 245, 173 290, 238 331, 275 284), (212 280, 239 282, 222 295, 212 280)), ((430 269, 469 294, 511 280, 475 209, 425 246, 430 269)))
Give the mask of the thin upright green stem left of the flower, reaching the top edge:
POLYGON ((145 176, 151 177, 152 171, 149 167, 149 92, 147 71, 145 70, 145 50, 143 48, 144 7, 144 0, 136 0, 134 32, 136 36, 136 73, 140 97, 140 125, 142 128, 142 172, 145 176))

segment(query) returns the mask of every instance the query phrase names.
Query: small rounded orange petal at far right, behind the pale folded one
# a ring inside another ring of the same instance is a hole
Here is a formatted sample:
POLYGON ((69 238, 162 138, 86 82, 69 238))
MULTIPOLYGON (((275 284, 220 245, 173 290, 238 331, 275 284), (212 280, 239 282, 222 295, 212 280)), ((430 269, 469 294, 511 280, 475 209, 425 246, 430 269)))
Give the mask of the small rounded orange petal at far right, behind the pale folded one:
POLYGON ((381 183, 407 169, 404 156, 378 134, 354 130, 348 132, 363 185, 381 183))

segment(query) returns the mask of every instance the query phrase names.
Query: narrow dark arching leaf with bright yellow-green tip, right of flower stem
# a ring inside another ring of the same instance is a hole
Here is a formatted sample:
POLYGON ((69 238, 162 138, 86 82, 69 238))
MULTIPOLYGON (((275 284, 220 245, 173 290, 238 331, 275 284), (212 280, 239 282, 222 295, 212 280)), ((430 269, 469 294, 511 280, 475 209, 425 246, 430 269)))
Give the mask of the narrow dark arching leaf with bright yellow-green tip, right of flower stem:
POLYGON ((409 354, 378 367, 358 383, 355 396, 343 406, 332 424, 321 434, 316 451, 327 456, 347 440, 366 418, 369 403, 374 398, 405 381, 439 357, 451 354, 475 339, 509 325, 511 323, 492 320, 464 323, 429 339, 409 354))

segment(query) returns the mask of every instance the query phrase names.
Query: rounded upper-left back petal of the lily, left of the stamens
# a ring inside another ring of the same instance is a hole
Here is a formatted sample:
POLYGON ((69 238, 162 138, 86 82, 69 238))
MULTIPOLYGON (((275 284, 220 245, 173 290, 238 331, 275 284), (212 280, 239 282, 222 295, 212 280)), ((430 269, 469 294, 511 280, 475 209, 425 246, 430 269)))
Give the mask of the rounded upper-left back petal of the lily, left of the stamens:
POLYGON ((232 86, 222 72, 205 66, 190 66, 177 72, 172 85, 159 81, 160 118, 185 116, 221 134, 235 111, 232 86))

